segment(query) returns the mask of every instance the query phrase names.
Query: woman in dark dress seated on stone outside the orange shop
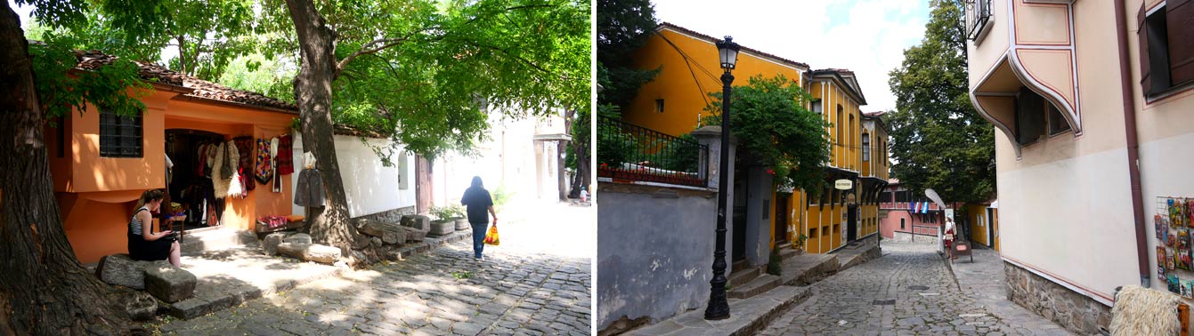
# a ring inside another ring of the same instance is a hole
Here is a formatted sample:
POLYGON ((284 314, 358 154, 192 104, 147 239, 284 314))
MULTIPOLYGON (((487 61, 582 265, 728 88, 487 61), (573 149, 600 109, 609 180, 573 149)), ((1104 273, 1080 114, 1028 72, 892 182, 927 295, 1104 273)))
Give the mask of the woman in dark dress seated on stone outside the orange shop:
POLYGON ((153 234, 153 213, 161 209, 164 194, 159 189, 141 193, 137 210, 129 219, 129 256, 133 260, 156 261, 170 260, 170 265, 181 266, 181 251, 174 231, 166 230, 153 234))

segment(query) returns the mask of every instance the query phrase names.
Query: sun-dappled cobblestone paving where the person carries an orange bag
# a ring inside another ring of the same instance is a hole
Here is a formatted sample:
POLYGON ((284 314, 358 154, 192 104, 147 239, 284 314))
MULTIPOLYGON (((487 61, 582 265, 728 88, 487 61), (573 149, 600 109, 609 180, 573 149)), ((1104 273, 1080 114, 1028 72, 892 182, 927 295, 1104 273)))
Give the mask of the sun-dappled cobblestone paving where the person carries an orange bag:
POLYGON ((476 261, 464 239, 155 328, 167 335, 589 335, 591 257, 506 244, 503 238, 476 261))

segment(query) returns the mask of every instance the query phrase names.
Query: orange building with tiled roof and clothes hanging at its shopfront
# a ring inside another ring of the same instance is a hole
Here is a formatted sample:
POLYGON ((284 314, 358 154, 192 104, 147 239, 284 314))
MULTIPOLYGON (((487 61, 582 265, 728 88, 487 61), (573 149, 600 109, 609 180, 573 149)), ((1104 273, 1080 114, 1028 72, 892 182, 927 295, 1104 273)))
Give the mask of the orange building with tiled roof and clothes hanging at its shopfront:
MULTIPOLYGON (((79 71, 115 60, 94 51, 81 57, 75 69, 79 71)), ((153 89, 140 98, 146 105, 143 114, 118 117, 88 104, 86 112, 64 116, 57 127, 48 127, 45 132, 63 226, 75 256, 84 263, 128 251, 128 222, 137 198, 146 189, 165 189, 171 179, 170 198, 176 201, 186 198, 180 194, 184 188, 179 183, 201 180, 196 176, 195 158, 199 143, 289 135, 291 122, 297 117, 297 108, 291 104, 159 66, 139 64, 141 76, 153 85, 153 89), (171 178, 166 173, 167 153, 174 163, 171 178)), ((223 198, 223 209, 216 216, 220 226, 252 230, 260 216, 290 214, 290 178, 282 176, 281 192, 272 192, 272 183, 259 183, 244 198, 223 198)), ((209 205, 211 209, 217 207, 209 205)), ((198 229, 193 225, 174 228, 198 229)))

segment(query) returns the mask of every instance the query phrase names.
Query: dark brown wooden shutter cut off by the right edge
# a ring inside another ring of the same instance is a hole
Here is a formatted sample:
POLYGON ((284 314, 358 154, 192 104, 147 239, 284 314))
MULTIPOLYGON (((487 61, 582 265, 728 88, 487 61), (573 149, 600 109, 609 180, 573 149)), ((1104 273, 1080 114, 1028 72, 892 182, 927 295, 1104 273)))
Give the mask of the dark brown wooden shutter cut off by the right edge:
POLYGON ((1169 75, 1173 83, 1194 80, 1194 1, 1168 0, 1169 75))

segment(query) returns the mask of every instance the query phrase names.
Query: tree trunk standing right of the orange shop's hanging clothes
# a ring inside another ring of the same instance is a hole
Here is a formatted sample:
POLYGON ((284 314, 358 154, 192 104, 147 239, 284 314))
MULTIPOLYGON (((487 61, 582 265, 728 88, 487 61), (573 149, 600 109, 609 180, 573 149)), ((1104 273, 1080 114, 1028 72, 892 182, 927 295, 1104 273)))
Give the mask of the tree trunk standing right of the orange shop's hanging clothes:
MULTIPOLYGON (((327 26, 310 0, 287 0, 287 7, 302 51, 298 76, 295 77, 295 101, 302 119, 302 145, 303 150, 315 155, 315 168, 322 175, 327 198, 326 207, 308 209, 310 236, 315 242, 340 248, 345 256, 351 256, 353 243, 361 242, 362 236, 356 228, 349 225, 347 197, 332 137, 336 32, 327 26)), ((375 260, 364 262, 371 261, 375 260)))

